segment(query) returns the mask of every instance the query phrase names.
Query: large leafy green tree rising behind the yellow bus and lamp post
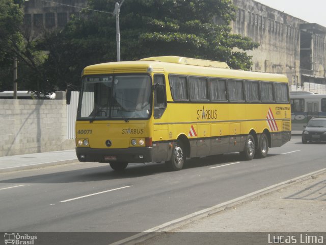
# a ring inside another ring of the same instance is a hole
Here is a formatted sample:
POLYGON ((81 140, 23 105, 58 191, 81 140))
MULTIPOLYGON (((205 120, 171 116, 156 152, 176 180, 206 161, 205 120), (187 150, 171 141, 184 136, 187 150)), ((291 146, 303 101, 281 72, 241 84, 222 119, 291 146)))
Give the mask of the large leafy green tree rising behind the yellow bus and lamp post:
MULTIPOLYGON (((63 31, 44 39, 51 83, 79 84, 90 64, 116 61, 116 0, 89 0, 89 8, 63 31), (99 11, 93 11, 99 10, 99 11)), ((244 51, 258 47, 231 34, 235 6, 230 0, 126 0, 120 9, 121 60, 176 55, 225 61, 231 68, 250 69, 244 51), (213 23, 217 19, 218 23, 213 23)))

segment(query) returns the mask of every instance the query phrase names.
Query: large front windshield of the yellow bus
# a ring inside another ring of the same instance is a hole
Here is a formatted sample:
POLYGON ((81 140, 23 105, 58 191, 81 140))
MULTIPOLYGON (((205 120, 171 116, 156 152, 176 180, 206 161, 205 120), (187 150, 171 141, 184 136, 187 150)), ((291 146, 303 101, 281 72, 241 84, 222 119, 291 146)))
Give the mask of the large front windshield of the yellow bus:
POLYGON ((151 115, 148 75, 84 77, 77 119, 146 119, 151 115))

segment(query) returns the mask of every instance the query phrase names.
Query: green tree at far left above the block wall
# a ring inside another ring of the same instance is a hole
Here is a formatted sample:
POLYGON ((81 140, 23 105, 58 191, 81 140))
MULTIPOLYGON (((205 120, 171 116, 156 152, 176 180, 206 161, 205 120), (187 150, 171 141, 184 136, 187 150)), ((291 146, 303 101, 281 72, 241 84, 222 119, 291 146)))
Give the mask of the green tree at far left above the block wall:
POLYGON ((41 66, 47 58, 39 50, 38 34, 23 23, 24 0, 0 1, 0 91, 13 89, 13 58, 17 58, 18 90, 51 92, 41 66))

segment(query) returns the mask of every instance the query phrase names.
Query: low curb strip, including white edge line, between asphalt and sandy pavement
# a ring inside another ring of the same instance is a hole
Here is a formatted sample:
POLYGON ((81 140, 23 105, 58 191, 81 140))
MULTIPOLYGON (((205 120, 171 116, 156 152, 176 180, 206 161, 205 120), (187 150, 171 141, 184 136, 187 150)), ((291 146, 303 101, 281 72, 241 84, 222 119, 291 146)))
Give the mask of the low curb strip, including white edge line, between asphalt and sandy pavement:
POLYGON ((199 220, 201 218, 209 217, 210 215, 222 212, 222 211, 227 210, 227 209, 232 209, 232 208, 234 208, 236 206, 239 206, 239 205, 248 203, 250 201, 253 201, 255 199, 261 198, 266 194, 270 194, 270 193, 273 193, 273 192, 275 192, 277 190, 280 190, 282 188, 289 187, 289 186, 291 186, 291 185, 293 185, 295 183, 308 180, 312 176, 321 175, 324 172, 326 172, 326 168, 322 168, 322 169, 319 169, 317 171, 311 172, 309 174, 302 175, 302 176, 299 176, 299 177, 296 177, 296 178, 293 178, 293 179, 290 179, 290 180, 280 182, 280 183, 275 184, 275 185, 268 186, 266 188, 251 192, 251 193, 246 194, 246 195, 243 195, 242 197, 239 197, 239 198, 236 198, 236 199, 233 199, 233 200, 230 200, 230 201, 227 201, 227 202, 212 206, 212 207, 207 208, 207 209, 200 210, 198 212, 195 212, 195 213, 183 216, 181 218, 172 220, 171 222, 161 224, 161 225, 156 226, 154 228, 151 228, 149 230, 138 233, 138 234, 136 234, 134 236, 127 237, 127 238, 125 238, 123 240, 111 243, 110 245, 120 245, 120 244, 131 245, 131 244, 137 244, 137 243, 144 242, 144 241, 146 241, 148 239, 151 239, 153 237, 165 234, 167 232, 173 232, 174 230, 176 230, 176 229, 178 229, 178 228, 180 228, 182 226, 191 224, 192 222, 195 222, 196 220, 199 220))

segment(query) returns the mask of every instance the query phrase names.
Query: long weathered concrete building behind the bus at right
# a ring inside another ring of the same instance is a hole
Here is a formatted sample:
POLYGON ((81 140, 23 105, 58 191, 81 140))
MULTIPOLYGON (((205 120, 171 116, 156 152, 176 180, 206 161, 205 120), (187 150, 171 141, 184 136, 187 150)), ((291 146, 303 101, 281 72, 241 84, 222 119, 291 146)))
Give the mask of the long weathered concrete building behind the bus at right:
POLYGON ((247 52, 253 70, 286 75, 292 91, 326 93, 325 27, 253 0, 233 3, 238 9, 232 32, 260 43, 247 52))

